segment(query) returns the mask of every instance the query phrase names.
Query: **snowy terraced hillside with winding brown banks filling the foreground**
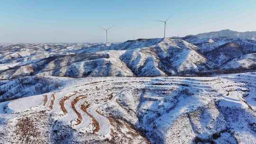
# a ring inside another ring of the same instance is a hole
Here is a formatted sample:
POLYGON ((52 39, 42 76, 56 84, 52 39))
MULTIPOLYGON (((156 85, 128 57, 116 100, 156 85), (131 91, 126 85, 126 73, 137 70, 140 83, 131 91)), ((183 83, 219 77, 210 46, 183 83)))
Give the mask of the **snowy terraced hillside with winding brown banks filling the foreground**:
POLYGON ((58 79, 0 103, 1 144, 256 143, 255 72, 58 79))

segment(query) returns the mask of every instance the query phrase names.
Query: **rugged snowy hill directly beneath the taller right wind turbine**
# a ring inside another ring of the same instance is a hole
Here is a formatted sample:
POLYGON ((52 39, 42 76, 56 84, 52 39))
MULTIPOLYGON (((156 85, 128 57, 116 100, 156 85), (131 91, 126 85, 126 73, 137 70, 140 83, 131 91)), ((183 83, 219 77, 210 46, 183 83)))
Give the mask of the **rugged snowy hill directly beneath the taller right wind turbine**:
POLYGON ((120 58, 138 76, 177 75, 212 69, 214 63, 198 51, 198 47, 181 39, 165 38, 157 45, 129 50, 120 58))

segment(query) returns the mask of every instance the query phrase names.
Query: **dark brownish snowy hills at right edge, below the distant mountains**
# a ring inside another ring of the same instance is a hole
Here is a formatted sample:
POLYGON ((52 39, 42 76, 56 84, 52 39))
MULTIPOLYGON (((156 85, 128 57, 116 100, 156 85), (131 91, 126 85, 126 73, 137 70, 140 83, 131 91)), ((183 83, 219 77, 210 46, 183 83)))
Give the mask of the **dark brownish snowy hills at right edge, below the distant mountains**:
MULTIPOLYGON (((223 68, 226 63, 232 63, 236 59, 243 59, 243 63, 253 65, 256 63, 253 54, 256 53, 256 41, 244 38, 232 37, 213 37, 201 38, 198 36, 186 36, 182 39, 198 46, 205 57, 215 63, 220 70, 236 70, 240 71, 240 67, 244 67, 242 63, 235 65, 229 64, 229 68, 223 68), (251 58, 249 56, 252 56, 251 58), (234 60, 233 60, 234 59, 234 60), (251 63, 251 64, 249 64, 251 63)), ((242 70, 255 70, 253 66, 248 66, 242 70)))

